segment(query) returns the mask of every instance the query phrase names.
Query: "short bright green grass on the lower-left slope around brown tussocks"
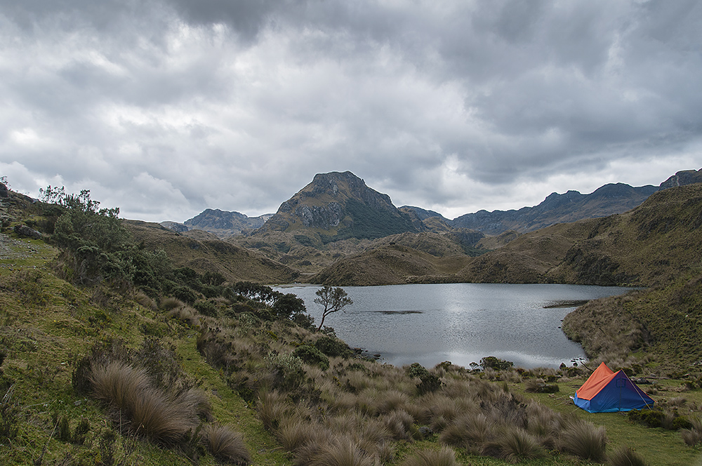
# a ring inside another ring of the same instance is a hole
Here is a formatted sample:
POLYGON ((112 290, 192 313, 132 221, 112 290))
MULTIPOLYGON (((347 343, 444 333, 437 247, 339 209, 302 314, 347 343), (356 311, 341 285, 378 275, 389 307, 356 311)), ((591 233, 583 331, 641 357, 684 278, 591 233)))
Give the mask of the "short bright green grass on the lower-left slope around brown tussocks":
MULTIPOLYGON (((52 252, 49 246, 41 241, 19 242, 38 252, 25 258, 31 265, 20 267, 14 262, 14 270, 6 270, 0 278, 0 341, 8 353, 2 380, 4 385, 16 382, 13 399, 20 408, 18 437, 0 446, 1 464, 26 465, 39 458, 44 464, 60 464, 66 458, 75 462, 67 464, 99 464, 100 441, 112 429, 97 402, 78 397, 72 390, 74 363, 94 342, 119 338, 136 347, 146 335, 176 345, 187 372, 202 381, 218 422, 244 434, 254 464, 290 464, 255 412, 197 352, 198 331, 121 295, 75 288, 54 277, 46 266, 51 256, 47 253, 52 252), (72 429, 80 418, 86 418, 91 426, 86 444, 52 439, 53 413, 66 416, 72 429)), ((121 436, 114 453, 117 460, 142 465, 191 464, 177 451, 121 436)), ((201 458, 201 464, 214 463, 211 456, 201 458)))

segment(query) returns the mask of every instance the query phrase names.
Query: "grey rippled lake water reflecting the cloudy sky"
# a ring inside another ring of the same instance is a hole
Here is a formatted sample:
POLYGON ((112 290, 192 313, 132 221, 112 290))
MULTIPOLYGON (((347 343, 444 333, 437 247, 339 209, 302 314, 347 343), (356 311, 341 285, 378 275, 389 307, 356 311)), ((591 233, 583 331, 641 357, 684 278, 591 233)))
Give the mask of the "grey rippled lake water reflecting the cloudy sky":
MULTIPOLYGON (((314 303, 317 286, 281 286, 305 300, 319 322, 314 303)), ((566 338, 561 320, 578 302, 619 295, 631 288, 559 284, 426 284, 346 286, 354 301, 346 312, 324 322, 352 347, 380 354, 381 361, 402 366, 442 361, 468 367, 496 356, 515 366, 568 366, 584 358, 583 349, 566 338)))

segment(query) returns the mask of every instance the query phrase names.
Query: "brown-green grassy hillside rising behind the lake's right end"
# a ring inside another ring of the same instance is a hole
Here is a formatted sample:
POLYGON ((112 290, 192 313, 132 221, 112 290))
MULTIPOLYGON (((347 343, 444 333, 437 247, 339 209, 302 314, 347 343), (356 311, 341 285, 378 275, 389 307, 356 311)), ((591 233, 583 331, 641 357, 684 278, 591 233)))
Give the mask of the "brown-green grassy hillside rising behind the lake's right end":
POLYGON ((524 234, 480 256, 461 281, 653 286, 702 265, 702 184, 665 189, 602 219, 524 234))

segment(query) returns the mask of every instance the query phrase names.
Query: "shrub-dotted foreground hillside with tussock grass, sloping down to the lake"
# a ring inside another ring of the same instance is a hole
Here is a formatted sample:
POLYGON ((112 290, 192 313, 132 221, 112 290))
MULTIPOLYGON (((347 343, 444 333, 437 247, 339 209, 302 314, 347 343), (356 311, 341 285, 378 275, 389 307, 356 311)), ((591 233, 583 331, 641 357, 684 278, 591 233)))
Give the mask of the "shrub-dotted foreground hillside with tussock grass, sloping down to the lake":
MULTIPOLYGON (((315 332, 294 297, 105 241, 121 225, 110 212, 88 209, 81 230, 67 209, 44 236, 60 250, 11 234, 46 225, 46 206, 14 211, 0 233, 1 464, 682 466, 702 453, 697 366, 651 387, 661 424, 646 428, 574 411, 582 367, 378 364, 315 332)), ((688 280, 661 299, 690 310, 698 295, 688 280)))

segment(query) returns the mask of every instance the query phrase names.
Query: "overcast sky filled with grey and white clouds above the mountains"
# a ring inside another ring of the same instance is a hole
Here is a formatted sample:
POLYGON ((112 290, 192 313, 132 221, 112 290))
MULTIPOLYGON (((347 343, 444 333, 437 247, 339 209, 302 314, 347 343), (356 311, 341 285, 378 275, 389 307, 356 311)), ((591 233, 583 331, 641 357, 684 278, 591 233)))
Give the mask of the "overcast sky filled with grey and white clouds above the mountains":
POLYGON ((141 220, 352 171, 448 218, 702 168, 702 2, 0 0, 0 175, 141 220))

